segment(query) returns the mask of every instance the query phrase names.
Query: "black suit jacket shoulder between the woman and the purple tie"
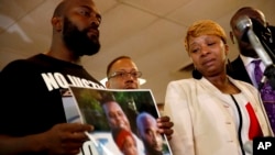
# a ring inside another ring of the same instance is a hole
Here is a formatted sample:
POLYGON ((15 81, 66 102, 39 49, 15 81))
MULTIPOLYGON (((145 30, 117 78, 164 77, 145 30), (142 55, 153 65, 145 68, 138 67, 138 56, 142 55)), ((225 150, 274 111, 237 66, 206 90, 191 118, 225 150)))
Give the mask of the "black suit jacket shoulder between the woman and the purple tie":
POLYGON ((230 77, 234 79, 246 81, 253 85, 240 55, 233 62, 228 64, 227 73, 230 77))

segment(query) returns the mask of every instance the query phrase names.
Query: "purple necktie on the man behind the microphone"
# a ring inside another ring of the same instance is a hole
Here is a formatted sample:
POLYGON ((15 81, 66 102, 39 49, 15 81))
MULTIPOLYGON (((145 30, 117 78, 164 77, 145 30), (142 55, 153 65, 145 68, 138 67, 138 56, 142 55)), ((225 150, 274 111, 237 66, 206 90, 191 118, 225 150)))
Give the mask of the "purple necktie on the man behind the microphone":
MULTIPOLYGON (((263 77, 263 71, 260 68, 261 60, 253 60, 253 63, 255 64, 254 76, 258 85, 263 77)), ((265 107, 266 114, 272 125, 272 130, 273 132, 275 132, 275 90, 272 89, 271 85, 268 84, 268 79, 264 84, 260 92, 265 107)))

